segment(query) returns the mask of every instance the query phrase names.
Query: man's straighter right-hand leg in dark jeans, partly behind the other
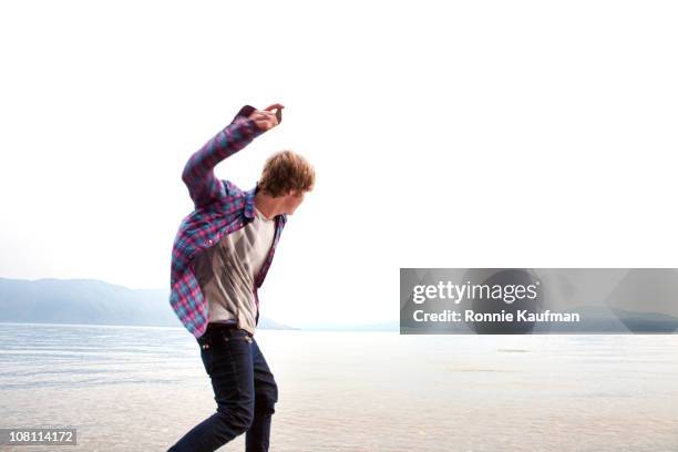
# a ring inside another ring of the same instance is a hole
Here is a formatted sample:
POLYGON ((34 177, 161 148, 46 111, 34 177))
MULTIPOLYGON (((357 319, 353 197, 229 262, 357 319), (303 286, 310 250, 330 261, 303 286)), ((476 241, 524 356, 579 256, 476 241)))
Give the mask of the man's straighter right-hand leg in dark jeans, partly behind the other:
POLYGON ((251 345, 251 359, 254 367, 255 412, 254 421, 245 434, 245 451, 267 452, 271 417, 276 411, 274 405, 278 401, 278 386, 256 339, 251 345))

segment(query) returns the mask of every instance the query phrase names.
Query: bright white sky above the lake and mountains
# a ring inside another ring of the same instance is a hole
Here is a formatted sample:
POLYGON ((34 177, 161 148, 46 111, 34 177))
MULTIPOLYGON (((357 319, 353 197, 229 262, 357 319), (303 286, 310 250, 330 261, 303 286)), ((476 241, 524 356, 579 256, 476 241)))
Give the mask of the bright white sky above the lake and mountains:
POLYGON ((317 170, 261 289, 290 325, 398 318, 400 267, 676 267, 678 7, 0 4, 0 276, 170 282, 191 154, 317 170))

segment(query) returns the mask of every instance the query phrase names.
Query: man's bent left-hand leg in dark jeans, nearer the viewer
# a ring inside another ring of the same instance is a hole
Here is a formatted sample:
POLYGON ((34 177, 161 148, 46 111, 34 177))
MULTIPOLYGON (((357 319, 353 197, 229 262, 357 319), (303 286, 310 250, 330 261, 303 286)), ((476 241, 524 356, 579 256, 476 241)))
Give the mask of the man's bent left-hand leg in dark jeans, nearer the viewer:
POLYGON ((255 408, 250 340, 244 330, 217 330, 206 339, 208 348, 201 348, 201 357, 212 379, 217 411, 168 452, 212 452, 249 429, 255 408))

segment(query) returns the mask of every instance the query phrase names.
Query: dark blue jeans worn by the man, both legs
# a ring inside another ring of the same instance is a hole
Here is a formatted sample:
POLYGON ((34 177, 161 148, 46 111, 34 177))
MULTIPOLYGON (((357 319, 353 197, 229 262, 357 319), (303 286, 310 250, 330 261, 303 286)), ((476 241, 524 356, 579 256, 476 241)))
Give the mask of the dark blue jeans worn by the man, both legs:
POLYGON ((246 452, 268 451, 278 386, 257 341, 245 330, 212 323, 197 341, 217 409, 167 452, 215 451, 245 432, 246 452))

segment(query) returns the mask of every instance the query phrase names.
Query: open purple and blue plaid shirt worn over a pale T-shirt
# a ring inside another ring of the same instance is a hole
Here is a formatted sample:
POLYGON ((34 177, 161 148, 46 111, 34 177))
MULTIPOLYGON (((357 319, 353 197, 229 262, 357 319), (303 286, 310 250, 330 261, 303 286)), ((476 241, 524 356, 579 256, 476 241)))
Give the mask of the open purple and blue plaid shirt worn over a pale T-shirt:
MULTIPOLYGON (((224 158, 247 146, 263 131, 249 120, 255 109, 245 105, 233 122, 209 140, 191 156, 182 175, 188 187, 195 209, 181 223, 172 247, 172 271, 170 305, 184 327, 196 338, 207 328, 208 304, 191 261, 196 254, 216 245, 224 236, 240 229, 255 216, 254 198, 258 183, 248 191, 242 191, 233 182, 219 181, 214 167, 224 158)), ((264 282, 287 222, 287 214, 275 217, 276 234, 273 246, 261 269, 255 278, 254 296, 257 306, 255 323, 259 322, 259 297, 257 289, 264 282)))

